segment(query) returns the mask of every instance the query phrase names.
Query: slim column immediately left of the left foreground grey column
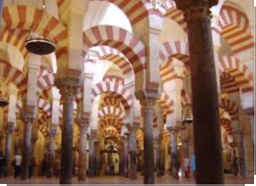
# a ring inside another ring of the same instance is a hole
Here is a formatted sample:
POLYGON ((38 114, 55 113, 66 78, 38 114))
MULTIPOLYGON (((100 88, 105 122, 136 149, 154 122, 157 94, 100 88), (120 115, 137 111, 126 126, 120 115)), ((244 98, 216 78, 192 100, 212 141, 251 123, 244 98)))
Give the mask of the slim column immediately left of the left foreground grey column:
POLYGON ((49 131, 49 144, 48 144, 48 160, 49 160, 49 171, 48 171, 48 178, 53 177, 53 168, 54 168, 54 152, 55 152, 55 136, 57 133, 57 126, 53 127, 51 125, 49 131))

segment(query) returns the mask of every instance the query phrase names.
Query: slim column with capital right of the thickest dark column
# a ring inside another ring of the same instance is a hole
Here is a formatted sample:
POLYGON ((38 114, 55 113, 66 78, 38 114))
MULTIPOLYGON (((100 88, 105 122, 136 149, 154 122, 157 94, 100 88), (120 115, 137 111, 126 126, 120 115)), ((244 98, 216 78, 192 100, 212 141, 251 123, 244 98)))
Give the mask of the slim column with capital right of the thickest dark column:
POLYGON ((237 147, 238 154, 238 166, 239 166, 239 175, 245 176, 246 167, 245 167, 245 151, 243 143, 243 132, 241 130, 234 131, 235 142, 237 147))

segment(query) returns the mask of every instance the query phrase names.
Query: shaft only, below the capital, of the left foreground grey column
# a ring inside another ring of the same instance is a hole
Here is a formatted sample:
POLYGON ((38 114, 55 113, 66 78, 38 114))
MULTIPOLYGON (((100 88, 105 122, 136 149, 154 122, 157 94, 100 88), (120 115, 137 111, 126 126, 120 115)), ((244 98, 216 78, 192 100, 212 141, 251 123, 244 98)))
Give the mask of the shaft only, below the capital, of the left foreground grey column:
POLYGON ((73 171, 73 100, 63 103, 60 184, 72 184, 73 171))

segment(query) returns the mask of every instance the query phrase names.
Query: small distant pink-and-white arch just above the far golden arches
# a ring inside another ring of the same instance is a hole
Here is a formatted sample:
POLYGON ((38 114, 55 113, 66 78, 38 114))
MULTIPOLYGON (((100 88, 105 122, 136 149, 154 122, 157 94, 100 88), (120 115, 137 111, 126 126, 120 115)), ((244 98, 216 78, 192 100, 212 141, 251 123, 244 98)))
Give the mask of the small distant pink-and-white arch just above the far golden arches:
POLYGON ((103 118, 105 116, 114 116, 123 119, 125 113, 118 107, 106 106, 99 110, 98 117, 103 118))

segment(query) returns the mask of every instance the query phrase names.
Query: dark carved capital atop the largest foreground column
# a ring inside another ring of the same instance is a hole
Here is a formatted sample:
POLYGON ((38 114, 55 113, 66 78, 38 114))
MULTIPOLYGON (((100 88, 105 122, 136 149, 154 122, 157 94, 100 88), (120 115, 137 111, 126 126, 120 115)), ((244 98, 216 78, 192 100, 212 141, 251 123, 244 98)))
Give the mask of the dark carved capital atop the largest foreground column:
POLYGON ((198 17, 210 17, 210 8, 219 0, 174 0, 179 10, 184 12, 184 19, 190 22, 198 17))

